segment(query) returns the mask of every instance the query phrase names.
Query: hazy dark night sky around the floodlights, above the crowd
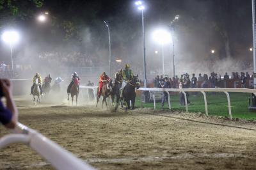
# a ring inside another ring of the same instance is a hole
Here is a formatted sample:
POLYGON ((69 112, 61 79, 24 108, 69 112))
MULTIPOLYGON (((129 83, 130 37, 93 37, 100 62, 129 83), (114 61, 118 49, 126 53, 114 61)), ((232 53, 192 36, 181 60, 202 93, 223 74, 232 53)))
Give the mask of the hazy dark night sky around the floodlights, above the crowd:
MULTIPOLYGON (((180 16, 173 33, 180 65, 184 64, 184 59, 188 62, 208 61, 211 49, 216 51, 213 56, 215 61, 227 58, 239 62, 252 61, 249 51, 252 47, 250 0, 148 0, 143 3, 146 8, 148 66, 157 61, 154 51, 161 49, 152 42, 152 31, 157 27, 168 29, 175 15, 180 16)), ((20 55, 24 54, 22 50, 28 51, 28 47, 35 49, 33 54, 68 47, 104 59, 104 55, 108 54, 108 31, 103 21, 108 20, 113 58, 122 58, 129 63, 142 59, 141 13, 134 1, 45 0, 41 8, 31 5, 28 11, 24 6, 20 12, 22 10, 28 12, 24 19, 17 16, 12 24, 1 22, 2 29, 11 25, 22 30, 26 38, 23 43, 25 48, 17 47, 20 55), (45 11, 50 13, 49 21, 44 25, 36 23, 36 16, 45 11)), ((6 52, 1 49, 4 58, 6 52)), ((172 50, 166 47, 164 52, 170 55, 172 50)), ((166 61, 170 62, 168 59, 166 61)))

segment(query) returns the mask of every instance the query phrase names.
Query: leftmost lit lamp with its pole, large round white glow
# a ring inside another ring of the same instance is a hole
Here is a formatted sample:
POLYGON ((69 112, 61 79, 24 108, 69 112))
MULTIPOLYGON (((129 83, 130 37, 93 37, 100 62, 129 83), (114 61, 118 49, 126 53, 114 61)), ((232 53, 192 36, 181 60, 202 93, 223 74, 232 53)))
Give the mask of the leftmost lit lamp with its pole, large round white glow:
POLYGON ((5 31, 2 35, 2 40, 10 45, 11 58, 12 58, 12 74, 14 75, 13 69, 13 57, 12 57, 12 45, 19 41, 19 33, 17 31, 5 31))

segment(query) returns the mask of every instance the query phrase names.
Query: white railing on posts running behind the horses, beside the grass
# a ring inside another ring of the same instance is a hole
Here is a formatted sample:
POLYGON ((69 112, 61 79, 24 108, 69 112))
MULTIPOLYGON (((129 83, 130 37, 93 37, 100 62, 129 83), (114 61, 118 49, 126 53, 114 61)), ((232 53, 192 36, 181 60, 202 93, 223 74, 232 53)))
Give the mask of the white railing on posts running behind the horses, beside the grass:
MULTIPOLYGON (((83 89, 93 89, 93 94, 96 96, 97 86, 81 86, 83 89)), ((185 106, 186 106, 186 112, 188 112, 188 103, 187 103, 187 95, 185 92, 200 92, 204 95, 204 104, 205 104, 205 114, 208 116, 208 107, 207 107, 207 97, 205 92, 223 92, 227 95, 227 103, 228 103, 228 114, 230 118, 232 118, 232 111, 231 111, 231 105, 230 105, 230 96, 229 93, 254 93, 256 95, 256 89, 246 89, 246 88, 186 88, 186 89, 173 89, 173 88, 140 88, 136 89, 139 91, 166 91, 166 92, 180 92, 184 94, 185 98, 185 106)), ((172 105, 170 102, 170 93, 167 93, 168 95, 168 106, 169 109, 172 109, 172 105)), ((156 109, 156 99, 155 95, 153 93, 153 100, 154 100, 154 109, 156 109)))

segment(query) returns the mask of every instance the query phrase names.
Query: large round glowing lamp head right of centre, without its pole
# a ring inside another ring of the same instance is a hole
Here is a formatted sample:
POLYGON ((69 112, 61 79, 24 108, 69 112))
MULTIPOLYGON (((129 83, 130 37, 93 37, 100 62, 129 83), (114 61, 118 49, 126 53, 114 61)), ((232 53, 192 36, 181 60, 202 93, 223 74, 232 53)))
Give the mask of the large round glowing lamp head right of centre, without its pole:
POLYGON ((160 44, 170 43, 172 40, 171 34, 164 29, 157 29, 153 32, 153 39, 155 42, 160 44))

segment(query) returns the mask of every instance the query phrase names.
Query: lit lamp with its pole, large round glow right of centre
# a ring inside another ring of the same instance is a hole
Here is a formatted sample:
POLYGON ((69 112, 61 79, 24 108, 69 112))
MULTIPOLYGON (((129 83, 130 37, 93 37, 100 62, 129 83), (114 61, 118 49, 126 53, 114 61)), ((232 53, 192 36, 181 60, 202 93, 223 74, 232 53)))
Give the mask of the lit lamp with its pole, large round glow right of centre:
POLYGON ((164 29, 157 29, 153 32, 154 41, 162 45, 162 62, 164 74, 164 44, 171 42, 171 34, 164 29))

